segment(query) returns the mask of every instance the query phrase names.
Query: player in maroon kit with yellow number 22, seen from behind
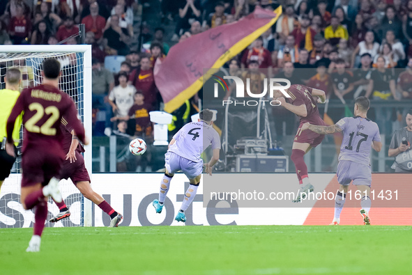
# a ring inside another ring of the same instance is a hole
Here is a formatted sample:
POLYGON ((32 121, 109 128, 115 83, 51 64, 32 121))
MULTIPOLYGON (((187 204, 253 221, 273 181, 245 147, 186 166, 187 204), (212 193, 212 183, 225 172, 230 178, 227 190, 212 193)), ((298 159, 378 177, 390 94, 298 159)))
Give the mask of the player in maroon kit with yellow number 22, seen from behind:
POLYGON ((17 102, 7 120, 6 150, 14 156, 13 128, 17 116, 24 111, 24 141, 22 156, 22 193, 24 209, 36 206, 34 213, 33 236, 27 252, 40 251, 40 236, 47 218, 47 197, 61 201, 59 178, 64 153, 60 130, 61 117, 64 116, 73 125, 78 138, 84 144, 89 143, 84 135, 82 123, 77 119, 73 100, 59 90, 60 63, 54 58, 43 61, 43 84, 26 88, 17 98, 17 102))

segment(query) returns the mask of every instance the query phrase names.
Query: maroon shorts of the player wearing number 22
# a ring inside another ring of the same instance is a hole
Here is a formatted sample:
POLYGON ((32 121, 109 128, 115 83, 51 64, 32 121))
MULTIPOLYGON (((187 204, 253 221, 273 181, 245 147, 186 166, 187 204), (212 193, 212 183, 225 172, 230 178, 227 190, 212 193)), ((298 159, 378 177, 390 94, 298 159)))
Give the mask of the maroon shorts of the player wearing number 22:
POLYGON ((45 186, 51 178, 59 178, 63 159, 64 153, 61 148, 26 148, 22 155, 22 187, 29 187, 38 182, 45 186))

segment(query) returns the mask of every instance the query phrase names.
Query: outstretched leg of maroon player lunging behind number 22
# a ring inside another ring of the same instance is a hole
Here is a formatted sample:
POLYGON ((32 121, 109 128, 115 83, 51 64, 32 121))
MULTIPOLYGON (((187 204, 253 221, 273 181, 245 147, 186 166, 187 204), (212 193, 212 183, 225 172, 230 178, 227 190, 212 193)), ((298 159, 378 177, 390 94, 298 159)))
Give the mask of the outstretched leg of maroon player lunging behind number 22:
POLYGON ((110 216, 112 221, 110 221, 109 227, 119 226, 119 223, 123 219, 122 214, 116 212, 112 208, 112 206, 110 206, 109 203, 107 203, 107 201, 105 201, 105 199, 102 198, 102 196, 93 191, 93 189, 91 189, 90 182, 77 182, 76 187, 77 189, 79 189, 80 193, 82 193, 85 198, 88 198, 90 201, 93 201, 93 203, 98 205, 98 207, 100 207, 101 210, 103 210, 106 214, 110 216))

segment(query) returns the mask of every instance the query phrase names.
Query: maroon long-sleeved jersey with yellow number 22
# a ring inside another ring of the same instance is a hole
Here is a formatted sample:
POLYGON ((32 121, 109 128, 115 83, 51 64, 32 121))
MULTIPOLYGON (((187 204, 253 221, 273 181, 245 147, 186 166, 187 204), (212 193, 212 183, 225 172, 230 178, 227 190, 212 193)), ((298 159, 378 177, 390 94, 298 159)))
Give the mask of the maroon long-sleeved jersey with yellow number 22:
POLYGON ((24 141, 26 148, 36 148, 53 152, 62 150, 63 135, 60 129, 61 117, 64 116, 81 141, 84 141, 84 128, 77 119, 73 100, 58 88, 39 85, 26 88, 17 98, 17 102, 7 120, 8 142, 13 142, 12 132, 17 116, 24 111, 24 141))

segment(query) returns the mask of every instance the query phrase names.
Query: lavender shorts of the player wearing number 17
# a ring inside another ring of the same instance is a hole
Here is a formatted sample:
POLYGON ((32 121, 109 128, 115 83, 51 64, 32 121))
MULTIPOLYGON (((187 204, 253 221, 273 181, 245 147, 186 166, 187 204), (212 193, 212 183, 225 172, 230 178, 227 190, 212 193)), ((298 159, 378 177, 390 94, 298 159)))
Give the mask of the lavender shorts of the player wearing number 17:
POLYGON ((337 182, 349 185, 353 180, 354 185, 372 184, 372 171, 369 165, 358 164, 349 160, 342 160, 337 164, 337 182))

